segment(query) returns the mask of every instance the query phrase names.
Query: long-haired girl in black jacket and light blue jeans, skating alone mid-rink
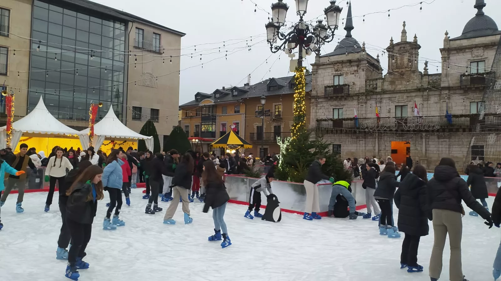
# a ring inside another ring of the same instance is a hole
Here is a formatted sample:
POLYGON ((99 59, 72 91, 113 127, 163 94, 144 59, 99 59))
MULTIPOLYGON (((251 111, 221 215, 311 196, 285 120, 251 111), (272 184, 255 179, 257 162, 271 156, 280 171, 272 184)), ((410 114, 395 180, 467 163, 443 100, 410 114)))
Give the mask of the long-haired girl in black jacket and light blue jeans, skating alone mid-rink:
POLYGON ((226 203, 229 200, 229 195, 226 192, 226 187, 221 176, 216 171, 214 163, 211 160, 203 162, 202 183, 205 186, 205 205, 203 212, 208 212, 209 207, 212 207, 212 219, 214 220, 214 235, 209 236, 209 241, 220 241, 221 247, 225 248, 231 245, 231 240, 228 236, 226 223, 224 222, 224 210, 226 203), (222 238, 221 238, 222 232, 222 238))

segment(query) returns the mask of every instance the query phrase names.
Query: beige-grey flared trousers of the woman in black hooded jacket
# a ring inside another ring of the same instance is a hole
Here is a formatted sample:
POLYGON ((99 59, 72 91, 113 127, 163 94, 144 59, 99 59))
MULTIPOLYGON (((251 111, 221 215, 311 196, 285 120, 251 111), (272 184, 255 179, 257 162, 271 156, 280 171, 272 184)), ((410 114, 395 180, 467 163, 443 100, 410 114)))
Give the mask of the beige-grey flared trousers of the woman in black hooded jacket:
POLYGON ((463 271, 461 268, 461 237, 463 222, 461 214, 451 210, 433 209, 433 249, 430 257, 430 277, 440 278, 442 273, 442 254, 445 239, 449 234, 450 260, 449 280, 462 281, 463 271))

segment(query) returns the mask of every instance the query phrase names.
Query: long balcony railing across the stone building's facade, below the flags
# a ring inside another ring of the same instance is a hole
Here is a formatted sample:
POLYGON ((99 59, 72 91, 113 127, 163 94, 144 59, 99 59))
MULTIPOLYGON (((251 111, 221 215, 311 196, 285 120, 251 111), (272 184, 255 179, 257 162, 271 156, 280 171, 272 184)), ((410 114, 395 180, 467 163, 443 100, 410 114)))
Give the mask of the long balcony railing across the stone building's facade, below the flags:
MULTIPOLYGON (((486 113, 486 115, 488 115, 486 113)), ((380 118, 340 118, 317 119, 317 129, 359 129, 367 131, 390 130, 438 130, 441 128, 474 128, 479 114, 456 114, 448 119, 443 115, 433 116, 404 116, 380 118)), ((492 118, 493 116, 489 117, 492 118)), ((501 118, 499 120, 501 122, 501 118)))

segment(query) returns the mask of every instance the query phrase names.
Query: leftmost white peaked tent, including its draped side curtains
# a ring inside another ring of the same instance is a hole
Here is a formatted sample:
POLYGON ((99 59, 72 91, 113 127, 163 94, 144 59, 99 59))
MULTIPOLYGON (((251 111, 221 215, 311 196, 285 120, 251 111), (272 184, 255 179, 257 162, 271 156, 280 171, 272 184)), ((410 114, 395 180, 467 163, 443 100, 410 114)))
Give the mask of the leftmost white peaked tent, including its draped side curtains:
MULTIPOLYGON (((82 139, 82 133, 76 129, 61 123, 45 107, 42 96, 37 106, 28 115, 12 124, 11 147, 15 149, 21 135, 26 133, 55 134, 55 135, 78 135, 82 139)), ((7 126, 0 127, 0 147, 7 146, 7 126)))

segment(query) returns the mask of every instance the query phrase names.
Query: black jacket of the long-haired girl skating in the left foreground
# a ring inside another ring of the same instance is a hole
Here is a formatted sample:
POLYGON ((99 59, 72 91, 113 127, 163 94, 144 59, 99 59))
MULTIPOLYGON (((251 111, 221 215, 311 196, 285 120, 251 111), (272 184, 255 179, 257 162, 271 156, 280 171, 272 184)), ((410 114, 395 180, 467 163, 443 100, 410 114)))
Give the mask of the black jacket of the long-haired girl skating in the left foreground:
MULTIPOLYGON (((92 193, 90 183, 81 183, 73 189, 66 203, 66 218, 78 223, 92 223, 97 211, 97 201, 87 201, 89 193, 92 193)), ((92 196, 92 195, 91 195, 92 196)))

